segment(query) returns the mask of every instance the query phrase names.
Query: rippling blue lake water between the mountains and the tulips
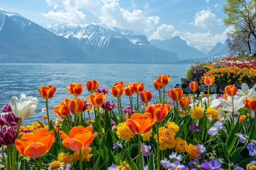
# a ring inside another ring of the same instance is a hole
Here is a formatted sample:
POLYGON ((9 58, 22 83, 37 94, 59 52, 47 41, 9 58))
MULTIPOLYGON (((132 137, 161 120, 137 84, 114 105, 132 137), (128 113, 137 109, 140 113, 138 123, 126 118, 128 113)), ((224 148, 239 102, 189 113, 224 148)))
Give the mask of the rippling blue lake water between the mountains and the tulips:
MULTIPOLYGON (((155 101, 159 92, 154 88, 154 81, 158 75, 172 77, 165 87, 165 91, 168 91, 176 84, 180 84, 181 78, 186 77, 186 71, 190 67, 191 64, 0 64, 0 108, 10 103, 11 97, 19 98, 20 94, 24 93, 26 96, 38 98, 36 112, 31 117, 23 119, 24 124, 40 120, 45 114, 41 111, 45 108, 45 99, 40 96, 37 88, 52 85, 56 87, 56 92, 52 99, 48 99, 49 117, 57 119, 59 117, 55 115, 53 108, 66 97, 74 98, 65 87, 74 82, 85 87, 86 82, 92 79, 99 81, 99 88, 107 89, 120 81, 126 84, 144 83, 144 90, 152 91, 152 101, 155 101)), ((85 99, 90 94, 85 89, 79 97, 85 99)), ((112 97, 110 92, 106 100, 114 100, 117 104, 117 98, 112 97)), ((133 100, 134 103, 137 102, 137 95, 133 96, 133 100)), ((122 108, 129 106, 129 97, 123 94, 121 103, 122 108)))

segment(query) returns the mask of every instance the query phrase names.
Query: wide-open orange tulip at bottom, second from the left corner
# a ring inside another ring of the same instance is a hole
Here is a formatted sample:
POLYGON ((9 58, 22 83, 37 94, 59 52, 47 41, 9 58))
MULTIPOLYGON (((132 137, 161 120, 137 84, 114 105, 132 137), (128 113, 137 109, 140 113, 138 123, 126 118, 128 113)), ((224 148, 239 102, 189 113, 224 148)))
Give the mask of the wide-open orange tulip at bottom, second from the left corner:
POLYGON ((69 135, 63 131, 60 131, 60 135, 63 139, 63 146, 73 150, 74 152, 78 152, 89 148, 98 133, 93 133, 92 126, 88 126, 87 128, 83 126, 74 126, 70 130, 69 135))

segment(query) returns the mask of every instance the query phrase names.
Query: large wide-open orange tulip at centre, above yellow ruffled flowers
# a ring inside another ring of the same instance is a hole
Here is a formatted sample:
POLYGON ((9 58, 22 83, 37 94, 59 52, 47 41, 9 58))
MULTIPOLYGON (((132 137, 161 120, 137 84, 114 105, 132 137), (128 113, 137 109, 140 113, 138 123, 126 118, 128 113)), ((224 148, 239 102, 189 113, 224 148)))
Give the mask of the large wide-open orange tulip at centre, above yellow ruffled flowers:
POLYGON ((125 125, 132 130, 134 134, 146 134, 154 126, 157 117, 152 119, 151 113, 133 113, 130 119, 127 119, 125 125))

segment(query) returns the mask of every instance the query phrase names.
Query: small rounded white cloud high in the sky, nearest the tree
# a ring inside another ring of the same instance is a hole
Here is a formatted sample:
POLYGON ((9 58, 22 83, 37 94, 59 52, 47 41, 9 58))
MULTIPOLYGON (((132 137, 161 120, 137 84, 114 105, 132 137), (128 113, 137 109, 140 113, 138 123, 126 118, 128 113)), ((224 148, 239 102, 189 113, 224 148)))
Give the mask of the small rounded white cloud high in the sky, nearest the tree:
POLYGON ((214 26, 220 22, 220 20, 216 20, 216 15, 214 13, 211 13, 211 10, 202 10, 198 11, 198 13, 195 14, 195 20, 194 25, 200 26, 202 28, 209 28, 214 26))

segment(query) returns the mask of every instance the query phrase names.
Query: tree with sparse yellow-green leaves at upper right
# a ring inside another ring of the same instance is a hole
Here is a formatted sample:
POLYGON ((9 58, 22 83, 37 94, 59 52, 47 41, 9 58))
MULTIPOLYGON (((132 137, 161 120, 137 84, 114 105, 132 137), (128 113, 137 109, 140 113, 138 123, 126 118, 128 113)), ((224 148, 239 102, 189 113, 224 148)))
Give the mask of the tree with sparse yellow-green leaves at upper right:
MULTIPOLYGON (((223 11, 228 18, 224 19, 226 26, 233 25, 234 32, 231 34, 236 42, 243 42, 248 46, 251 53, 251 44, 256 39, 256 0, 247 2, 246 0, 227 0, 223 6, 223 11)), ((237 44, 239 44, 237 42, 237 44)))

